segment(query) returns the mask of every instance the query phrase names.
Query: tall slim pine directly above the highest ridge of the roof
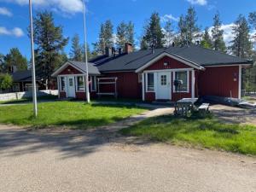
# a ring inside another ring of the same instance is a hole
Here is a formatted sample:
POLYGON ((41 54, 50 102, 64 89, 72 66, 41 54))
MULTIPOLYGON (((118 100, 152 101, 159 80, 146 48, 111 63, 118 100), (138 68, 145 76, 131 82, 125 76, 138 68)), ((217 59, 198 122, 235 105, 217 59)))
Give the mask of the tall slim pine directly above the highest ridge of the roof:
POLYGON ((190 7, 185 17, 185 24, 187 27, 187 40, 190 42, 190 44, 193 44, 195 42, 195 37, 199 32, 199 27, 196 25, 196 21, 197 17, 195 9, 193 7, 190 7))

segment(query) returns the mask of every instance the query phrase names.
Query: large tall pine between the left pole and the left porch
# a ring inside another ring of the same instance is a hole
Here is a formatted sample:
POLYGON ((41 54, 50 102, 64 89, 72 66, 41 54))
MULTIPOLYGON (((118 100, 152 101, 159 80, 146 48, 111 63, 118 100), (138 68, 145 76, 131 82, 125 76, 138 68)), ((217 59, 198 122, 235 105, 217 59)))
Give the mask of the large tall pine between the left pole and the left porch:
POLYGON ((45 80, 51 81, 51 74, 63 61, 63 49, 68 38, 62 35, 62 26, 55 26, 51 12, 39 12, 34 20, 34 42, 36 67, 45 80))

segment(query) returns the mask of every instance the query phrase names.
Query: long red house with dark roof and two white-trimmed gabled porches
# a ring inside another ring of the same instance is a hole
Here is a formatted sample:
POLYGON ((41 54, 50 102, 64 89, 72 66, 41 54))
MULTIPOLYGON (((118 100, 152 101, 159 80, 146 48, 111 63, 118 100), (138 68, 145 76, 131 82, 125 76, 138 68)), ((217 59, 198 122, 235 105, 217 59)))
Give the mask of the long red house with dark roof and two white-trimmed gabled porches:
MULTIPOLYGON (((124 52, 106 49, 89 63, 90 95, 177 101, 185 97, 241 98, 241 68, 252 61, 199 45, 124 52), (178 87, 175 80, 181 80, 178 87)), ((60 97, 86 99, 82 62, 67 61, 54 74, 60 97)))

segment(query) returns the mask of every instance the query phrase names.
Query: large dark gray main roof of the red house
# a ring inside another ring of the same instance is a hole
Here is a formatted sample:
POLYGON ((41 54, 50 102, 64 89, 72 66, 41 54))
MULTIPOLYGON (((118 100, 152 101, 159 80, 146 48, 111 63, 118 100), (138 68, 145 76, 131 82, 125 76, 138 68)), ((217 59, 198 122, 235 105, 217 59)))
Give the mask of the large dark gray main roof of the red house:
POLYGON ((135 71, 165 52, 202 67, 252 63, 252 61, 195 45, 154 49, 153 54, 151 49, 148 49, 111 57, 102 55, 90 60, 90 62, 95 63, 100 72, 135 71))

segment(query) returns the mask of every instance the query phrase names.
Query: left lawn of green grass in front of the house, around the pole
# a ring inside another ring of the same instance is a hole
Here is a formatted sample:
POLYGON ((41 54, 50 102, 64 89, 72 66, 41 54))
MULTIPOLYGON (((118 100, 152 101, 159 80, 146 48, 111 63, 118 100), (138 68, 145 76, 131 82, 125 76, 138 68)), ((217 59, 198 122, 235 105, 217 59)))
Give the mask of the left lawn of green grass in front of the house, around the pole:
POLYGON ((0 107, 0 123, 35 127, 67 125, 87 129, 108 125, 146 109, 122 105, 94 105, 85 102, 38 103, 38 119, 32 117, 32 104, 0 107))

